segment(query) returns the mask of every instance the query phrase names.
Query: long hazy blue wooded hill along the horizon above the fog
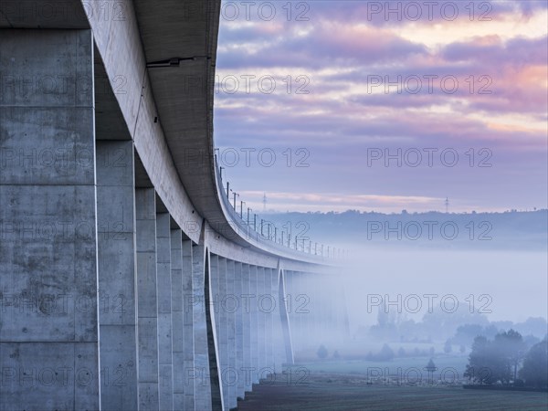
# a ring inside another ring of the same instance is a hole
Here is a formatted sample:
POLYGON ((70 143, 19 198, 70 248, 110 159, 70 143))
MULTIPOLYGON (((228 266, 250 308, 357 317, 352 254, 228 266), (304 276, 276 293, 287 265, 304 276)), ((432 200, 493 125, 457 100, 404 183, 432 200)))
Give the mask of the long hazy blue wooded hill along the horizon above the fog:
MULTIPOLYGON (((342 213, 265 213, 260 218, 278 227, 291 241, 298 236, 324 244, 383 247, 503 248, 546 250, 548 210, 503 213, 383 214, 349 210, 342 213)), ((271 230, 273 233, 274 230, 271 230)), ((287 237, 285 238, 287 241, 287 237)), ((308 242, 305 240, 305 244, 308 242)))

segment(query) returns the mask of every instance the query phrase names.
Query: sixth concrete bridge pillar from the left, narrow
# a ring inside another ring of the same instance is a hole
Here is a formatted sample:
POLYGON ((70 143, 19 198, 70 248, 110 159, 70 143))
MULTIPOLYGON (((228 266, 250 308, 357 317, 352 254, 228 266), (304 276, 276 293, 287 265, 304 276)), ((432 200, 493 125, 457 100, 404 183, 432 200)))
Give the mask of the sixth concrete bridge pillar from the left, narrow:
POLYGON ((195 410, 195 361, 194 361, 194 306, 193 294, 193 245, 191 240, 184 240, 183 248, 183 359, 184 367, 180 370, 184 381, 184 411, 195 410))

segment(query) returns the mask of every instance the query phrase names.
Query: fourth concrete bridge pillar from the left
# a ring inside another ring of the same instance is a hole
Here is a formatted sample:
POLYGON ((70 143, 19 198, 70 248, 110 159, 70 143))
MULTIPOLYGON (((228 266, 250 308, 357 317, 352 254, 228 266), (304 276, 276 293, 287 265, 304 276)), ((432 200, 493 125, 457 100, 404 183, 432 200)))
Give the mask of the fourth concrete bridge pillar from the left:
POLYGON ((158 368, 160 409, 174 407, 172 343, 171 229, 169 213, 156 214, 158 368))

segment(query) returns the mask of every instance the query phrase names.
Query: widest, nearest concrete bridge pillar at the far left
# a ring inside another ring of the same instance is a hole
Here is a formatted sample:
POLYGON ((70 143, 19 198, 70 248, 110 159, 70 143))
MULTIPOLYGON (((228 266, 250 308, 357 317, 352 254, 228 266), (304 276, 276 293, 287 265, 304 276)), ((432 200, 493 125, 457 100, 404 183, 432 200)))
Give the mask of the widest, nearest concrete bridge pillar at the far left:
POLYGON ((0 408, 98 409, 91 31, 2 29, 0 50, 0 408))

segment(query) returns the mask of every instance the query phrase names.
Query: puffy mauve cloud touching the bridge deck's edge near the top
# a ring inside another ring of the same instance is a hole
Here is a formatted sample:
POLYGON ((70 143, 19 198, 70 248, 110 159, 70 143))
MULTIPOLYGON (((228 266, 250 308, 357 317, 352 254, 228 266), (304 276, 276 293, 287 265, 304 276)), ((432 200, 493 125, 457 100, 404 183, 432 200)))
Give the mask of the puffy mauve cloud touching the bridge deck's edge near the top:
POLYGON ((217 59, 223 68, 321 68, 332 63, 405 60, 427 52, 426 47, 390 31, 331 18, 315 21, 306 30, 292 25, 269 36, 258 26, 228 30, 227 41, 234 44, 219 47, 217 59))

